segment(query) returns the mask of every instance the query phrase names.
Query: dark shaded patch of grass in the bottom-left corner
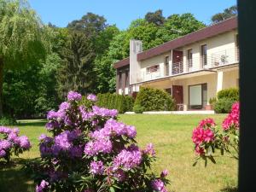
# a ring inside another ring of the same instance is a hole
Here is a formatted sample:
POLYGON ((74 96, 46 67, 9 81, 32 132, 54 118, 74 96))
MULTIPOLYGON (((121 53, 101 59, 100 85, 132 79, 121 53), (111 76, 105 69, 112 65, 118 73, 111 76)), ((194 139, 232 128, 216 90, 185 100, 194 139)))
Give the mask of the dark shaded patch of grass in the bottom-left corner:
POLYGON ((32 192, 35 185, 22 167, 27 160, 13 159, 10 163, 0 161, 0 192, 32 192))

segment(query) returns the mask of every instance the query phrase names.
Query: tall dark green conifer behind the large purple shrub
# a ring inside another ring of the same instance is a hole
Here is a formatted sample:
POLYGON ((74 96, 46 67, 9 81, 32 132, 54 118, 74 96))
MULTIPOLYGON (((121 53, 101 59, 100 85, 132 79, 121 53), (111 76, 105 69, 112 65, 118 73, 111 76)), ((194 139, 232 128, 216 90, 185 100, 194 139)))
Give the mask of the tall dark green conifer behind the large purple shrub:
POLYGON ((61 51, 62 67, 58 74, 58 90, 61 98, 69 90, 90 91, 95 76, 92 73, 93 53, 89 38, 82 32, 71 32, 66 46, 61 51))

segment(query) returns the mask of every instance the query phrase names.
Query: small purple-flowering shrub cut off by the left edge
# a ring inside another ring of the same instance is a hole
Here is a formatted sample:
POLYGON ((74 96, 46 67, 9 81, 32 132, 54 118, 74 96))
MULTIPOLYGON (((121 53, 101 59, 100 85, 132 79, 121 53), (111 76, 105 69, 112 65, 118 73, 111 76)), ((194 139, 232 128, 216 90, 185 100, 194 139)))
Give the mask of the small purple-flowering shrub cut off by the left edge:
POLYGON ((23 151, 31 148, 31 144, 26 136, 19 137, 19 129, 10 129, 9 127, 0 126, 0 160, 4 159, 9 162, 12 154, 19 155, 23 151), (2 138, 2 139, 1 139, 2 138))

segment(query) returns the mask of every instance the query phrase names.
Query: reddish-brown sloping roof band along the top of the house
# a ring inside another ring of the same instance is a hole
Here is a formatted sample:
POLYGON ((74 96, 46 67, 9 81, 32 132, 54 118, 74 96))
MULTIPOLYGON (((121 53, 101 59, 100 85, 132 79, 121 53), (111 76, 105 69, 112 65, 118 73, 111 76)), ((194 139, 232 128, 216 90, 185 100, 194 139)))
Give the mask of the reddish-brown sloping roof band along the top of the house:
MULTIPOLYGON (((187 44, 193 44, 202 39, 211 38, 218 34, 232 31, 236 28, 237 28, 237 17, 232 17, 228 20, 218 22, 217 24, 214 24, 212 26, 207 26, 196 32, 191 32, 188 35, 185 35, 181 38, 176 38, 172 41, 166 42, 165 44, 160 44, 157 47, 138 53, 137 61, 143 61, 155 55, 160 55, 172 49, 183 47, 184 45, 187 45, 187 44)), ((128 65, 129 62, 130 62, 129 58, 126 58, 125 60, 116 62, 114 64, 114 67, 115 68, 124 67, 125 65, 128 65)))

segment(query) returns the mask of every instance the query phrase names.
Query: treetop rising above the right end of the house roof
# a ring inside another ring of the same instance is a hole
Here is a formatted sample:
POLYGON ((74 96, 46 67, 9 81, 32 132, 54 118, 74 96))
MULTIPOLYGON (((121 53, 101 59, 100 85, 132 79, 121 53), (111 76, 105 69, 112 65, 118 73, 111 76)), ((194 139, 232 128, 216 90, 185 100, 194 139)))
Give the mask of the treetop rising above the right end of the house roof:
POLYGON ((218 23, 222 20, 227 20, 230 17, 237 15, 237 6, 231 6, 228 9, 224 9, 224 12, 212 15, 212 23, 218 23))

